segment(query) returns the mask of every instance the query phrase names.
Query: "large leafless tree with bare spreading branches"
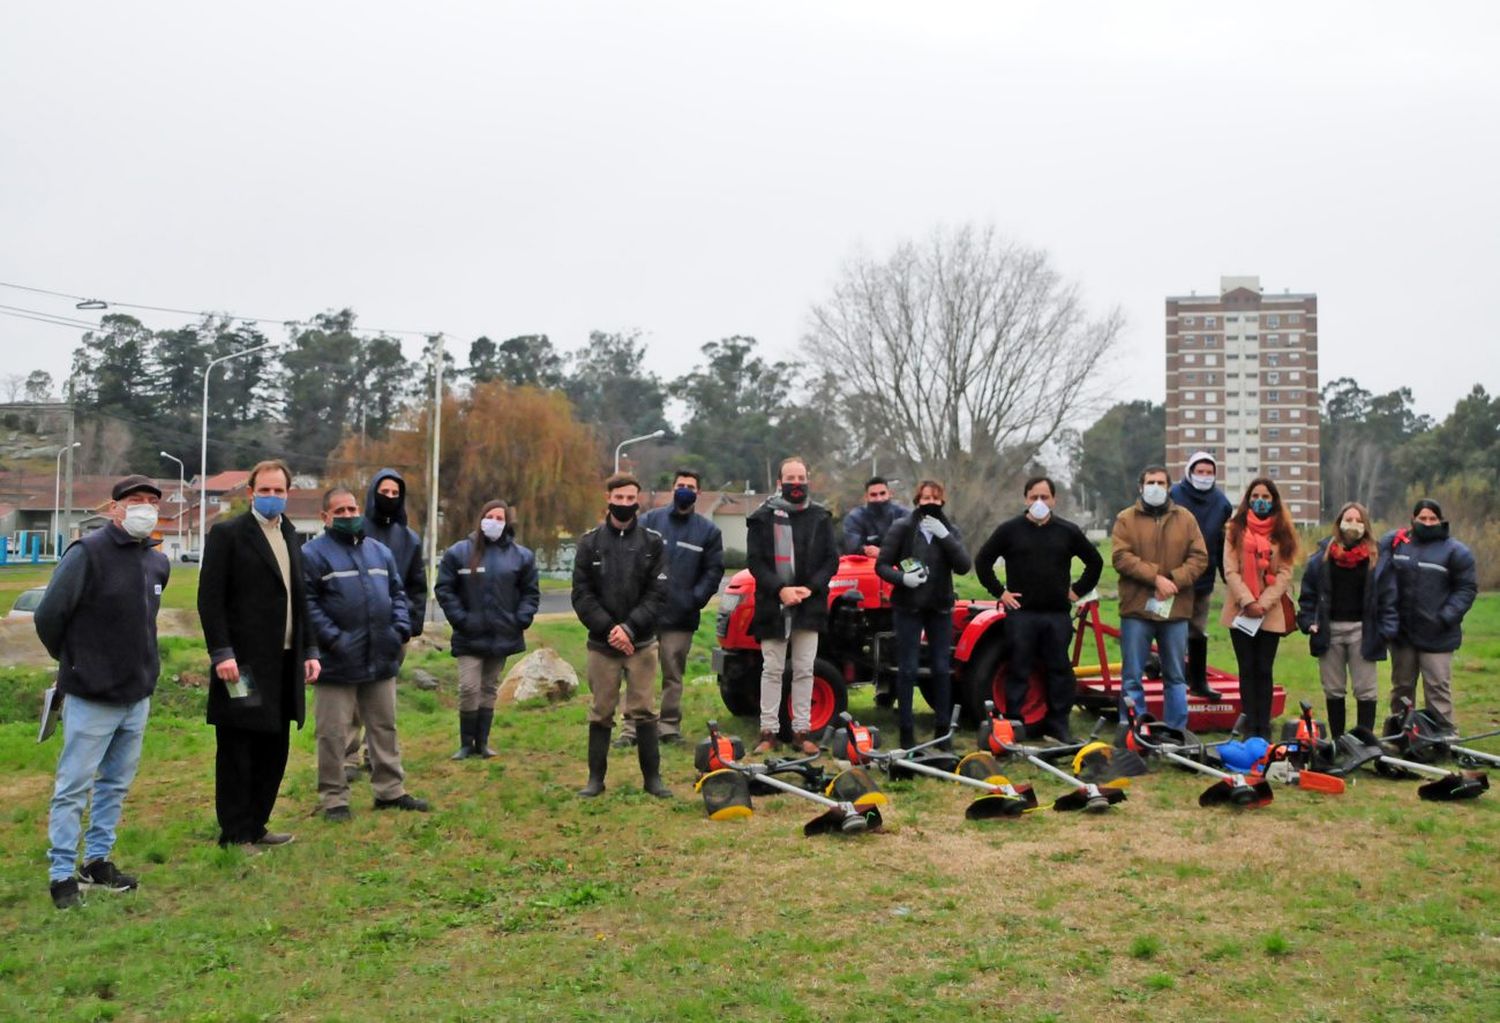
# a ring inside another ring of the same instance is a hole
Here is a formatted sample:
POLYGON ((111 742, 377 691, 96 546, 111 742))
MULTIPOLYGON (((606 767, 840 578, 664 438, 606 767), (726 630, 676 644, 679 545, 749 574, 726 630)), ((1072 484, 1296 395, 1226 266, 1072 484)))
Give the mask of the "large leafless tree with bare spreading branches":
POLYGON ((1101 394, 1122 322, 1090 318, 1046 252, 966 225, 850 260, 807 342, 867 450, 942 478, 974 531, 994 518, 980 513, 994 488, 1101 394))

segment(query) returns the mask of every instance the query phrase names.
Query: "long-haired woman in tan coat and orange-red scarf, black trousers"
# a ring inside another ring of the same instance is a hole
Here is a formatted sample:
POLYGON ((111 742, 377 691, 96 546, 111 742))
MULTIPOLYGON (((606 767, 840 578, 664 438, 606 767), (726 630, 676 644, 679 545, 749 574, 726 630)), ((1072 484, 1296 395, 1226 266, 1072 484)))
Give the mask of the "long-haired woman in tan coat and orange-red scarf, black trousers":
POLYGON ((1270 669, 1276 645, 1292 632, 1296 615, 1287 590, 1298 558, 1298 531, 1281 502, 1281 490, 1266 477, 1250 482, 1224 532, 1222 624, 1239 662, 1239 699, 1246 735, 1270 738, 1270 669))

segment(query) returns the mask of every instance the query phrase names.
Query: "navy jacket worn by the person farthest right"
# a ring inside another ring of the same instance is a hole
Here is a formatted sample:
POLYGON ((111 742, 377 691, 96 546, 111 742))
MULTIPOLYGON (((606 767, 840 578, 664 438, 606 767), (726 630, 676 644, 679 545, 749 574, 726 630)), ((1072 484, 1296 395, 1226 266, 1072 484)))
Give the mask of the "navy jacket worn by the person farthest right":
POLYGON ((1437 540, 1416 540, 1410 528, 1380 538, 1380 556, 1396 570, 1396 606, 1401 630, 1396 642, 1443 654, 1464 642, 1461 622, 1479 594, 1473 552, 1448 536, 1442 524, 1437 540))

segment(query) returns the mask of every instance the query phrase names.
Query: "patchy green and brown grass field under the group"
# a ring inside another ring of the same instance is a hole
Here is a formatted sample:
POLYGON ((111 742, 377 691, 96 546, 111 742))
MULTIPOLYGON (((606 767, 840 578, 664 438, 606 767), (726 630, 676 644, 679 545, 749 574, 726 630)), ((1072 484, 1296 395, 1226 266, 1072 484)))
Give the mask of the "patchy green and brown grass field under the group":
MULTIPOLYGON (((1500 594, 1467 626, 1455 690, 1478 730, 1500 724, 1500 594)), ((705 628, 688 672, 694 732, 724 717, 710 642, 705 628)), ((538 622, 531 644, 582 664, 570 621, 538 622)), ((1278 662, 1293 700, 1317 694, 1305 651, 1292 638, 1278 662)), ((1371 776, 1344 796, 1280 790, 1264 810, 1212 812, 1196 802, 1198 777, 1168 771, 1104 818, 968 824, 957 786, 902 782, 885 784, 885 832, 802 838, 812 806, 786 796, 758 800, 748 820, 705 820, 688 748, 664 752, 672 804, 642 795, 618 753, 606 796, 576 800, 582 698, 502 711, 498 759, 450 762, 453 662, 434 651, 408 666, 444 688, 400 688, 400 734, 408 786, 436 810, 372 813, 362 782, 351 824, 309 819, 309 728, 273 820, 297 842, 246 858, 213 844, 201 690, 170 681, 202 669, 201 644, 166 652, 117 849, 141 890, 76 914, 54 912, 45 888, 58 747, 38 746, 28 720, 44 674, 0 680, 0 1018, 1500 1016, 1500 794, 1424 804, 1413 784, 1371 776)), ((1210 657, 1233 668, 1221 634, 1210 657)), ((854 710, 894 730, 868 690, 854 710)))

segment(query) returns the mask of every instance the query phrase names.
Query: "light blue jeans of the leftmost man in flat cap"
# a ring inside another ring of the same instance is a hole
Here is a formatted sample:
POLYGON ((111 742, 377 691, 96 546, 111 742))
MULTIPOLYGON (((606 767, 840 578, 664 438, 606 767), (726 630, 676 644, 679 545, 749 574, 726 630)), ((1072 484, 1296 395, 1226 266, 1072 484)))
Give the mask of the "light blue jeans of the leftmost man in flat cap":
POLYGON ((78 864, 78 831, 88 807, 84 862, 108 860, 124 794, 141 764, 141 740, 152 699, 100 704, 81 696, 63 700, 63 752, 57 758, 52 813, 46 824, 48 880, 72 878, 78 864), (98 776, 98 777, 96 777, 98 776))

